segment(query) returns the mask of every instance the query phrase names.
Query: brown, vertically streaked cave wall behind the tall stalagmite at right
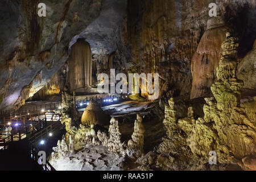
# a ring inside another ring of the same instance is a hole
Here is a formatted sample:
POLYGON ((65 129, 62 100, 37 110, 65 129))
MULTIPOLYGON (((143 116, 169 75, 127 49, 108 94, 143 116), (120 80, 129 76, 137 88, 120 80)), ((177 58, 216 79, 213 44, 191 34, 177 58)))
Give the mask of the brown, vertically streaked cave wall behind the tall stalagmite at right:
MULTIPOLYGON (((209 95, 225 32, 232 30, 238 36, 240 60, 256 39, 255 1, 215 1, 217 17, 213 18, 208 15, 209 3, 128 1, 114 54, 116 72, 159 73, 160 97, 165 101, 209 95)), ((252 73, 241 74, 251 77, 252 73)))

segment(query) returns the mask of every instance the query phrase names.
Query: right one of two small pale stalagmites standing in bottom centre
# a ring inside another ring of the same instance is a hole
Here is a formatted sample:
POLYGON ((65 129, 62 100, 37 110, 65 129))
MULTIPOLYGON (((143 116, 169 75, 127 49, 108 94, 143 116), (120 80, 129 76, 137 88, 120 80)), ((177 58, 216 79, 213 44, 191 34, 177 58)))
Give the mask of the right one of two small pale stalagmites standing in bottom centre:
POLYGON ((135 119, 134 122, 134 132, 133 135, 131 135, 131 139, 128 141, 128 148, 134 150, 136 156, 143 154, 144 132, 142 117, 137 114, 137 119, 135 119))

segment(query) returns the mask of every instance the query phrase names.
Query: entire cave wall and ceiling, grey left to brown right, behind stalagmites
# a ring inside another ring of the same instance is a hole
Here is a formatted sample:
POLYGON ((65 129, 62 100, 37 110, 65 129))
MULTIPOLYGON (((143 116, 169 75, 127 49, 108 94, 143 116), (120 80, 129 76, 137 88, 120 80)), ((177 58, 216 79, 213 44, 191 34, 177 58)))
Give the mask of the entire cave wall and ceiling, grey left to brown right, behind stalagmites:
POLYGON ((42 89, 79 39, 92 50, 93 82, 110 68, 159 73, 160 97, 167 101, 210 93, 220 43, 231 28, 240 39, 237 75, 255 89, 249 79, 255 75, 255 1, 216 0, 217 20, 209 18, 211 2, 46 0, 47 17, 39 17, 39 1, 1 1, 0 109, 18 107, 42 89))

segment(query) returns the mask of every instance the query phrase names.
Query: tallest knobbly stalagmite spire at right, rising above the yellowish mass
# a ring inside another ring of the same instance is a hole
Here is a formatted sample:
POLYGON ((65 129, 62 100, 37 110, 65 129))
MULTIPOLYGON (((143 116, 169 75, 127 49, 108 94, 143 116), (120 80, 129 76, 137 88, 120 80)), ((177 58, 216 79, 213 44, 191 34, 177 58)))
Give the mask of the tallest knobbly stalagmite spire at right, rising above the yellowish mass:
POLYGON ((218 81, 211 87, 212 93, 217 100, 217 107, 220 110, 234 107, 240 103, 242 81, 236 78, 237 68, 237 39, 226 34, 226 40, 222 44, 222 56, 217 68, 218 81))

